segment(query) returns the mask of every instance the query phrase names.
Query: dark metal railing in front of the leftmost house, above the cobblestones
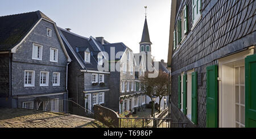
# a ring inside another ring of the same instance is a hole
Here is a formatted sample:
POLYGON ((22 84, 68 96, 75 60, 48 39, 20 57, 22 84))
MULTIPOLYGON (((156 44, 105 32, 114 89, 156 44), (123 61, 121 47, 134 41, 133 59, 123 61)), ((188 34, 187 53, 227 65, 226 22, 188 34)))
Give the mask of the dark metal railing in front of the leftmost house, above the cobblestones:
POLYGON ((94 118, 94 113, 80 106, 73 100, 48 98, 46 96, 18 96, 18 108, 36 109, 40 111, 71 113, 94 118))

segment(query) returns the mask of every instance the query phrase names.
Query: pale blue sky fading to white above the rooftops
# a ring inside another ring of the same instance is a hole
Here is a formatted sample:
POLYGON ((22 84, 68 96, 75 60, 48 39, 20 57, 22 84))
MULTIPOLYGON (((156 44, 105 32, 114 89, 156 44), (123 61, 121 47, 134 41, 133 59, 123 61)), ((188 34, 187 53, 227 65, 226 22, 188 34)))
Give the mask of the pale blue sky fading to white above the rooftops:
POLYGON ((102 36, 110 43, 123 42, 138 53, 144 6, 152 54, 167 61, 171 0, 0 0, 0 16, 40 10, 61 28, 85 37, 102 36))

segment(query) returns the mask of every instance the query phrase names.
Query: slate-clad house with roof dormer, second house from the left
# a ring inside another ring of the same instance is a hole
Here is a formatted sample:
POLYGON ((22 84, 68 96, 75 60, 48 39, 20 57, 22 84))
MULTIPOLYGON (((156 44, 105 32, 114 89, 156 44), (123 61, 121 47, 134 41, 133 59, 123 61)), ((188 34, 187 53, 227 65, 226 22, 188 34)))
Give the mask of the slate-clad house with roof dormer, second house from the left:
POLYGON ((61 38, 71 56, 68 73, 68 97, 74 102, 93 111, 95 104, 109 107, 112 101, 109 92, 109 71, 98 70, 98 64, 104 65, 104 56, 98 53, 105 52, 103 45, 108 41, 103 37, 82 37, 71 31, 59 28, 61 38))

